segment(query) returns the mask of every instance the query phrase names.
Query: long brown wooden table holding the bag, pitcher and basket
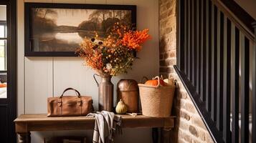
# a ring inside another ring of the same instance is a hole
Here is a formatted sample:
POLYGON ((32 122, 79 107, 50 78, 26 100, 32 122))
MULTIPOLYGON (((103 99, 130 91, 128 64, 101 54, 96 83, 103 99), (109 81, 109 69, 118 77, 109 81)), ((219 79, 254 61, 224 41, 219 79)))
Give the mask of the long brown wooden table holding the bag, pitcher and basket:
MULTIPOLYGON (((168 132, 174 127, 174 117, 121 116, 124 128, 164 127, 168 132)), ((14 122, 19 142, 30 143, 30 132, 32 131, 94 129, 95 119, 93 117, 47 117, 46 114, 22 114, 14 122)))

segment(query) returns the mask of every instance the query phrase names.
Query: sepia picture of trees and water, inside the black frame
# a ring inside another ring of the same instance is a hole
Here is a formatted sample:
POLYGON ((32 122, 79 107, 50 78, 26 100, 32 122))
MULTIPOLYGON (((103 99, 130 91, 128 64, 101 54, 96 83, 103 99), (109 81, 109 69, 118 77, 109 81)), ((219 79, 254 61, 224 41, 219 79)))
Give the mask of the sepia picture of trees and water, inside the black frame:
POLYGON ((75 51, 95 31, 104 39, 115 23, 131 24, 131 10, 39 7, 31 9, 30 20, 34 51, 75 51))

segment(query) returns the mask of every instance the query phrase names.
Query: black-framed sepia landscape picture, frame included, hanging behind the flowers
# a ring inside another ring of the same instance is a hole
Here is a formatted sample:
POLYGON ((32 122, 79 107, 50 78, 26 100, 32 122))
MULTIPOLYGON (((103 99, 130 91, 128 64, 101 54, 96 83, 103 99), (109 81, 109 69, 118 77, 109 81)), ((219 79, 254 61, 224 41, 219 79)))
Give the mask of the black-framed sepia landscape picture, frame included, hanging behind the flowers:
POLYGON ((25 56, 77 56, 83 39, 103 39, 117 22, 136 27, 136 6, 25 3, 25 56))

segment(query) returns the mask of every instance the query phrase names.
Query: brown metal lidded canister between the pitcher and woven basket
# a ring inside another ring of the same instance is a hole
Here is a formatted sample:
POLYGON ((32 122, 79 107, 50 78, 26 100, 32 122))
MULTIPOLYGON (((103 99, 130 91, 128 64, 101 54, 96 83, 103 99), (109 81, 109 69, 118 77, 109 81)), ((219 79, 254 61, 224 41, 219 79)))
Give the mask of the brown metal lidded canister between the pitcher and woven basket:
POLYGON ((117 102, 122 101, 127 105, 129 113, 138 112, 138 83, 133 79, 120 79, 117 86, 117 102))

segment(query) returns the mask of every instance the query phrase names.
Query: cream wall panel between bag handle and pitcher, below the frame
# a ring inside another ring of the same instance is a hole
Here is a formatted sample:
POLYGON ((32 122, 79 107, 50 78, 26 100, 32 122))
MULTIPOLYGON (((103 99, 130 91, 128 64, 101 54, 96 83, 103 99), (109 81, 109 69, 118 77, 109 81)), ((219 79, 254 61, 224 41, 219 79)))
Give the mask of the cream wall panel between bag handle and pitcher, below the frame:
POLYGON ((73 87, 82 95, 92 96, 94 107, 98 109, 98 87, 93 79, 94 71, 83 66, 82 60, 77 57, 54 57, 53 64, 54 96, 60 96, 65 88, 73 87))

